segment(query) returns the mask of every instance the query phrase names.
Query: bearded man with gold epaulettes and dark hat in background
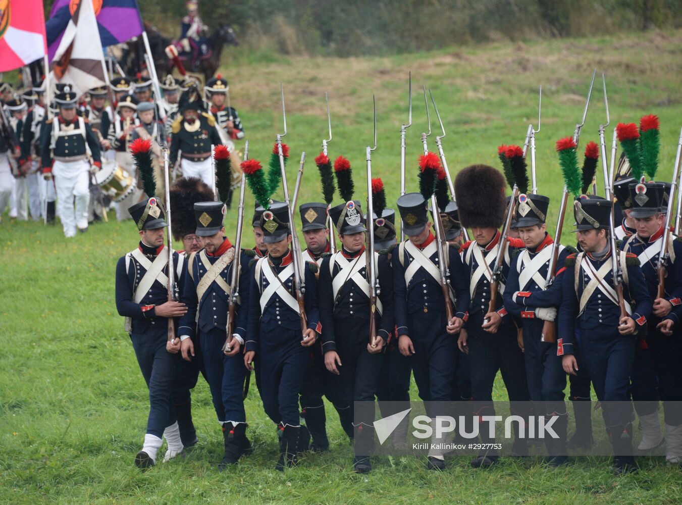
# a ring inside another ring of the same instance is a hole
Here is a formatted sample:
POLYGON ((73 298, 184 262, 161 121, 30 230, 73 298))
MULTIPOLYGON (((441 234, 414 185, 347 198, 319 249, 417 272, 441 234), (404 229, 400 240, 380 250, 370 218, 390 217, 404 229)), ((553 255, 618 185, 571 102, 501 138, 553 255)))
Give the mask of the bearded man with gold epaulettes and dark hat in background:
POLYGON ((196 88, 190 87, 180 97, 179 115, 173 122, 170 140, 170 165, 181 152, 180 167, 185 177, 200 177, 212 183, 211 145, 222 145, 216 121, 203 109, 196 88))

